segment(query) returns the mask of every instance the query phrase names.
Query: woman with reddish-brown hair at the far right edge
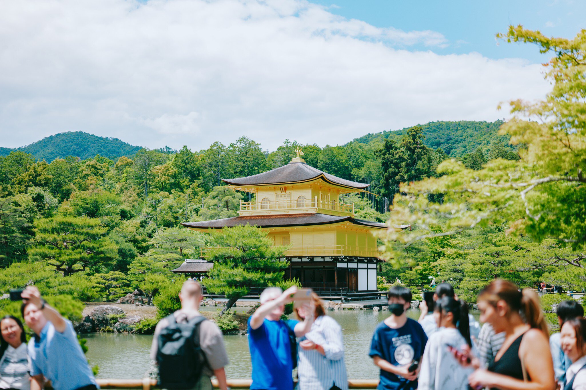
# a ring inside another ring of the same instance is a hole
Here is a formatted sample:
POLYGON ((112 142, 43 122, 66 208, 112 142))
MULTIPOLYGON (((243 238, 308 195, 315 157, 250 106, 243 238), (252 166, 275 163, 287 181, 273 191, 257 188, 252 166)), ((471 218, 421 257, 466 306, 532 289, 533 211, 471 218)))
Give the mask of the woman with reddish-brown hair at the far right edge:
POLYGON ((561 327, 561 348, 572 364, 565 372, 564 390, 586 390, 586 320, 566 321, 561 327))

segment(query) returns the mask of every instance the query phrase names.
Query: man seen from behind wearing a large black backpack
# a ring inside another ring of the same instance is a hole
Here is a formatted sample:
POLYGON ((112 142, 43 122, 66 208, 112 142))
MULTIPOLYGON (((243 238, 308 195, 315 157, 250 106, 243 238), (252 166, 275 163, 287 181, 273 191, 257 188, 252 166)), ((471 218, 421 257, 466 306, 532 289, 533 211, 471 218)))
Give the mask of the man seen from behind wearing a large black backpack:
POLYGON ((227 390, 228 356, 222 331, 199 313, 202 287, 183 283, 181 309, 159 321, 152 340, 151 358, 159 367, 162 389, 212 390, 215 375, 220 390, 227 390))

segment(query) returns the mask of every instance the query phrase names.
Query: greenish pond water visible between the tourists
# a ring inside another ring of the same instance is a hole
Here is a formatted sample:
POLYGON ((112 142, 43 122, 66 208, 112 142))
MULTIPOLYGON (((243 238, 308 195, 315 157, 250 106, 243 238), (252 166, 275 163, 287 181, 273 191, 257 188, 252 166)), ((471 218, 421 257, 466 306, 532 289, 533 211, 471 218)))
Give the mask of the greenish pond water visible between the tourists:
MULTIPOLYGON (((213 308, 202 308, 212 309, 213 308)), ((239 310, 240 311, 240 310, 239 310)), ((407 315, 417 319, 419 310, 407 310, 407 315)), ((368 356, 374 328, 387 316, 388 311, 340 310, 329 311, 342 326, 346 350, 348 378, 375 379, 379 371, 368 356)), ((478 313, 475 314, 478 319, 478 313)), ((138 379, 149 368, 149 351, 152 336, 141 334, 95 333, 84 336, 89 348, 86 356, 91 365, 98 365, 98 378, 138 379)), ((230 379, 250 378, 250 353, 247 336, 224 336, 230 358, 226 375, 230 379)))

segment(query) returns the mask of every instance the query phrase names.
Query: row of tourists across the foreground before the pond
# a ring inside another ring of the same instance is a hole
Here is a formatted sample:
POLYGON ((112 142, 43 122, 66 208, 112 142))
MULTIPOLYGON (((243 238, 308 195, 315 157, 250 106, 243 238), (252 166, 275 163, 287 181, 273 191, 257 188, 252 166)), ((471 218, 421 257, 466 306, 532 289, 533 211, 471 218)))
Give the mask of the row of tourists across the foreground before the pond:
MULTIPOLYGON (((296 302, 296 319, 283 320, 297 287, 267 288, 248 319, 253 390, 346 390, 342 328, 314 293, 296 302), (298 304, 297 304, 298 303, 298 304), (298 381, 292 377, 297 367, 298 381)), ((478 295, 482 327, 454 288, 426 292, 418 320, 407 317, 410 289, 388 293, 390 315, 372 337, 369 356, 380 368, 380 390, 586 390, 586 320, 574 300, 557 306, 561 332, 550 337, 537 295, 495 279, 478 295)), ((22 291, 25 329, 15 316, 0 319, 0 388, 94 390, 73 325, 35 287, 22 291)), ((151 358, 163 389, 211 390, 212 377, 227 390, 229 363, 222 332, 199 313, 202 288, 186 281, 181 309, 155 329, 151 358)))

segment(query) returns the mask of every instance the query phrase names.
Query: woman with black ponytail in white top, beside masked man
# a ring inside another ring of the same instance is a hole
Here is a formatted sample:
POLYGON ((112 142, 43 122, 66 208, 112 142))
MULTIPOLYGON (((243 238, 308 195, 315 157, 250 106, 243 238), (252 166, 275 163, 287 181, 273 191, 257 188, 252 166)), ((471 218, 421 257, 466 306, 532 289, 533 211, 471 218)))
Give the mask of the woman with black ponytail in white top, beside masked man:
POLYGON ((451 353, 462 346, 472 346, 468 320, 468 306, 444 296, 435 302, 437 330, 425 345, 419 390, 468 390, 468 375, 472 368, 464 368, 451 353))

